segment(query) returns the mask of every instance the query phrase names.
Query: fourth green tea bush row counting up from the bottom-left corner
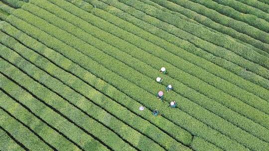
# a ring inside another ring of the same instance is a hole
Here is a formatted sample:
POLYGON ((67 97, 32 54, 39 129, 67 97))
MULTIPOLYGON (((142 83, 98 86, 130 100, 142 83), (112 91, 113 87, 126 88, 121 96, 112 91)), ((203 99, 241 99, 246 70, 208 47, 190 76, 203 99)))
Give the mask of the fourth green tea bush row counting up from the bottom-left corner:
POLYGON ((75 140, 74 142, 78 142, 77 144, 81 146, 79 148, 83 148, 82 149, 83 151, 97 150, 98 148, 100 148, 101 151, 107 150, 105 146, 102 146, 101 143, 96 141, 94 138, 90 137, 89 135, 87 135, 80 129, 78 129, 77 131, 77 127, 75 125, 68 122, 66 119, 64 119, 62 116, 60 116, 56 112, 54 112, 52 109, 47 107, 42 102, 34 99, 32 95, 30 95, 29 93, 26 93, 26 91, 23 90, 19 85, 9 80, 9 77, 1 75, 1 79, 2 79, 2 82, 6 83, 6 86, 7 86, 6 87, 5 85, 3 85, 3 89, 5 89, 6 95, 13 98, 16 102, 20 102, 19 104, 24 104, 24 106, 27 106, 27 108, 30 109, 29 111, 34 112, 35 115, 40 117, 39 118, 40 120, 44 119, 46 121, 49 121, 48 123, 51 123, 52 125, 57 127, 57 129, 59 129, 59 131, 62 131, 62 133, 67 133, 67 135, 70 134, 70 138, 74 139, 75 140), (8 87, 10 86, 13 86, 11 90, 8 89, 8 87), (22 94, 19 93, 20 94, 19 95, 16 92, 20 92, 22 94), (41 114, 40 113, 41 110, 42 112, 45 112, 45 114, 41 114))

